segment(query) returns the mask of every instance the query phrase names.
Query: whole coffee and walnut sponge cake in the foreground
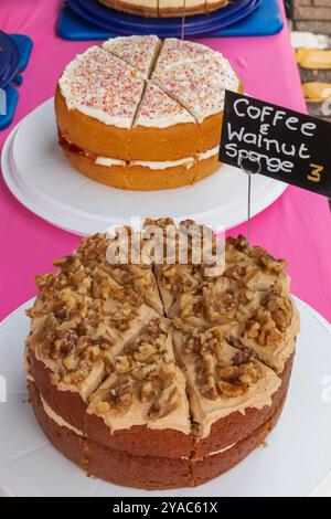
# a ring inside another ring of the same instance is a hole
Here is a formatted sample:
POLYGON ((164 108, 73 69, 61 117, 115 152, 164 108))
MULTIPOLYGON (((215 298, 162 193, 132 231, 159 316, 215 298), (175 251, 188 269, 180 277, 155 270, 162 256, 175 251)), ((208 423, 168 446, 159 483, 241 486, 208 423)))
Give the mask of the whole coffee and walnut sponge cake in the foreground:
MULTIPOLYGON (((148 223, 166 233, 171 221, 148 223)), ((200 485, 263 443, 280 415, 299 332, 286 264, 239 236, 226 240, 225 271, 213 276, 193 264, 190 237, 185 265, 134 265, 130 255, 113 265, 106 252, 118 240, 84 239, 36 276, 32 406, 89 475, 147 489, 200 485)))

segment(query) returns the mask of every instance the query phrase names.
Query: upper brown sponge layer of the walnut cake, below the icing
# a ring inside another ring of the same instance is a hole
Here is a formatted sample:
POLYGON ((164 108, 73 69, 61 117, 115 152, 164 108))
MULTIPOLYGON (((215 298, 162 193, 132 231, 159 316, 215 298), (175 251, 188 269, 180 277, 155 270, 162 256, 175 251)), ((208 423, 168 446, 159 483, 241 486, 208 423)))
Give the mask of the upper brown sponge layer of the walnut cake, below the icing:
POLYGON ((58 391, 51 382, 51 371, 43 362, 30 352, 29 364, 34 385, 47 405, 66 423, 82 431, 88 438, 97 443, 137 455, 185 457, 194 452, 196 458, 204 457, 226 448, 250 436, 253 432, 268 422, 286 398, 293 363, 293 356, 287 361, 281 375, 281 385, 273 395, 270 406, 261 410, 247 407, 245 414, 234 412, 213 423, 211 433, 205 438, 194 438, 193 433, 184 435, 174 430, 153 430, 147 426, 132 426, 128 430, 116 431, 111 434, 103 419, 87 414, 87 404, 78 393, 58 391))

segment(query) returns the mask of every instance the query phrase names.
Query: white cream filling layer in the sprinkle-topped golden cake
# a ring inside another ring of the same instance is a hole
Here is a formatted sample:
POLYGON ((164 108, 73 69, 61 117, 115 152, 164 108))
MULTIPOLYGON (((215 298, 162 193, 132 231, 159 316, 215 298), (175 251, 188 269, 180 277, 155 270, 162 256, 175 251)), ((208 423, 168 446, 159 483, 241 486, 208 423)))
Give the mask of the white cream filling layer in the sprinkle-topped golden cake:
POLYGON ((220 147, 216 146, 215 148, 197 153, 195 157, 186 157, 180 160, 166 160, 166 161, 132 160, 130 162, 126 162, 125 160, 111 159, 109 157, 97 157, 95 159, 95 163, 97 166, 105 166, 108 168, 111 168, 113 166, 121 166, 121 167, 141 166, 142 168, 158 170, 158 169, 175 168, 177 166, 185 166, 186 169, 190 169, 192 168, 192 166, 194 166, 196 161, 207 160, 212 157, 215 157, 218 153, 218 150, 220 150, 220 147))

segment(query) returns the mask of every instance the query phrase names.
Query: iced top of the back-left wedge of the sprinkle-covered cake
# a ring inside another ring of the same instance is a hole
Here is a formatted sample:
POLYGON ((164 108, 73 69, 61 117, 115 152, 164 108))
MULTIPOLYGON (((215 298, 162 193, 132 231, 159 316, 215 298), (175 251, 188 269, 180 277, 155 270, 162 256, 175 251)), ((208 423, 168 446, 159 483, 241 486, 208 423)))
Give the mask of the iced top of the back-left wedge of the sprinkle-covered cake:
POLYGON ((156 35, 110 38, 103 43, 103 49, 120 57, 148 78, 161 49, 161 40, 156 35))

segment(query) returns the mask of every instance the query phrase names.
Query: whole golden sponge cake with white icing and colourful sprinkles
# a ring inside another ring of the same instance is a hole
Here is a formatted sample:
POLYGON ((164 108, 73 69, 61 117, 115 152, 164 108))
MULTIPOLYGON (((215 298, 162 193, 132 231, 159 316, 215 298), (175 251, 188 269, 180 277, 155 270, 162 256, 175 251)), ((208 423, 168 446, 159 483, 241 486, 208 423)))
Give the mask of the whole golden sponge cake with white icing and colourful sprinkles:
POLYGON ((92 46, 55 94, 60 144, 81 173, 129 190, 194 183, 221 166, 225 89, 242 89, 222 54, 199 43, 127 36, 92 46))

